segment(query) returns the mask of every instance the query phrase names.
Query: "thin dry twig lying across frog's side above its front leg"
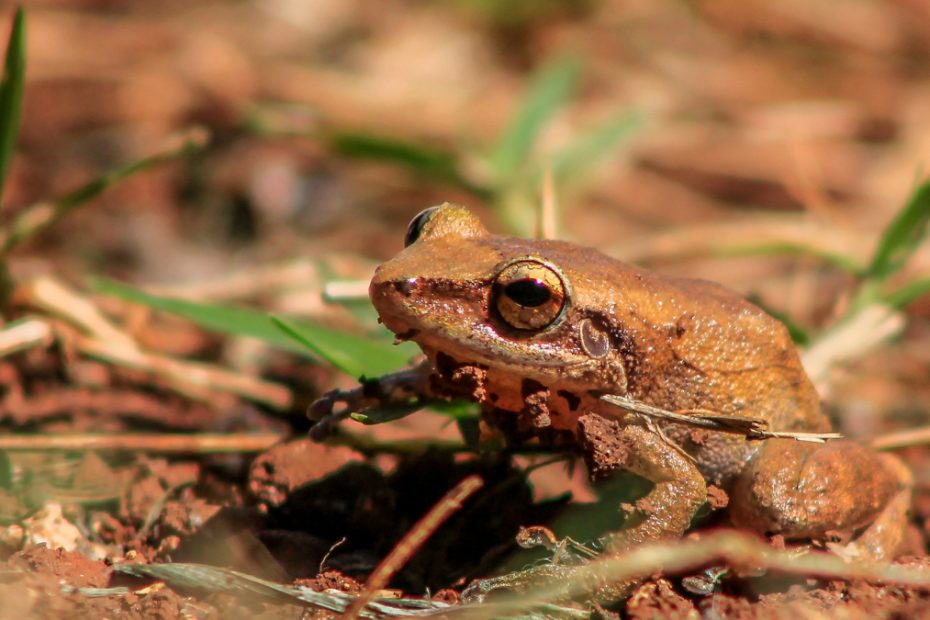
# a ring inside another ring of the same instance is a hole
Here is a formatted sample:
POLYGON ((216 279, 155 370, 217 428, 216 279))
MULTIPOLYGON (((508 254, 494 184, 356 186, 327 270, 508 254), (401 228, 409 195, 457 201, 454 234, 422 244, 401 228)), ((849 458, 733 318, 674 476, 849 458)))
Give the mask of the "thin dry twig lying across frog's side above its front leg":
POLYGON ((721 433, 732 433, 734 435, 744 435, 747 439, 796 439, 798 441, 810 441, 823 443, 828 439, 841 439, 840 433, 801 433, 795 431, 770 431, 768 422, 762 418, 749 418, 744 416, 722 415, 713 411, 702 409, 690 409, 687 411, 668 411, 660 407, 654 407, 615 394, 606 394, 601 396, 604 402, 620 407, 633 413, 647 416, 653 419, 665 420, 685 424, 697 428, 718 431, 721 433))

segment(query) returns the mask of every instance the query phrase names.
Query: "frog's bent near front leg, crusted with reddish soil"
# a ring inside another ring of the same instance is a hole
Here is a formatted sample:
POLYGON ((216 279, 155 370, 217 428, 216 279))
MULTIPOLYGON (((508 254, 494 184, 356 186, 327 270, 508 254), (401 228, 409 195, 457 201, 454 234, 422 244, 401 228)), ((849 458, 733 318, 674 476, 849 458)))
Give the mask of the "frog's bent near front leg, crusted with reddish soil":
POLYGON ((607 538, 608 552, 684 534, 707 499, 707 486, 697 466, 678 446, 643 426, 624 425, 596 414, 582 416, 578 431, 592 477, 622 468, 654 485, 636 503, 637 512, 627 527, 607 538))

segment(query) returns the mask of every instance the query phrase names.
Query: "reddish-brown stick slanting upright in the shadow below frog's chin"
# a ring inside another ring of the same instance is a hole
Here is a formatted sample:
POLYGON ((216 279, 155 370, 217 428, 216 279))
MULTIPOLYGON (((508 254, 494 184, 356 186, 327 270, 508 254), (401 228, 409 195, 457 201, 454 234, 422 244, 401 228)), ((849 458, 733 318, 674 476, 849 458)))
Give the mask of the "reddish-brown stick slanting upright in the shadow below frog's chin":
POLYGON ((381 560, 377 568, 368 576, 365 589, 346 613, 346 618, 354 620, 365 606, 375 597, 378 590, 387 585, 388 580, 406 564, 413 554, 433 535, 452 513, 462 507, 462 503, 484 485, 478 475, 471 475, 459 482, 454 489, 443 496, 429 512, 417 521, 410 531, 398 542, 394 549, 381 560))

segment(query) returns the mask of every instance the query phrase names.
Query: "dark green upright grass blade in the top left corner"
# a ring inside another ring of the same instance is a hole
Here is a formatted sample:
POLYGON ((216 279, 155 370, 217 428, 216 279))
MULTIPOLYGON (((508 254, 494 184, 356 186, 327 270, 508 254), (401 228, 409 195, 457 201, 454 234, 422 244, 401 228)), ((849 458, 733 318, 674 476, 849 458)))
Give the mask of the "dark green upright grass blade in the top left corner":
POLYGON ((26 76, 26 13, 16 9, 13 28, 7 43, 0 80, 0 202, 3 186, 13 161, 13 148, 19 132, 19 118, 23 103, 23 83, 26 76))

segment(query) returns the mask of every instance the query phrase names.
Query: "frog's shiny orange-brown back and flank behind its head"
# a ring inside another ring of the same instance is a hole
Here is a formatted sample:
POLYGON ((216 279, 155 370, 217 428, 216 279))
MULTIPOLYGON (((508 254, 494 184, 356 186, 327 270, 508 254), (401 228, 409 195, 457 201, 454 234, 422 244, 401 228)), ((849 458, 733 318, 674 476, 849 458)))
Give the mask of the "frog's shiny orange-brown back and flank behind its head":
POLYGON ((825 428, 787 329, 734 291, 663 277, 566 242, 498 243, 559 265, 577 310, 611 322, 614 346, 629 350, 632 396, 672 409, 760 417, 778 430, 825 428))

